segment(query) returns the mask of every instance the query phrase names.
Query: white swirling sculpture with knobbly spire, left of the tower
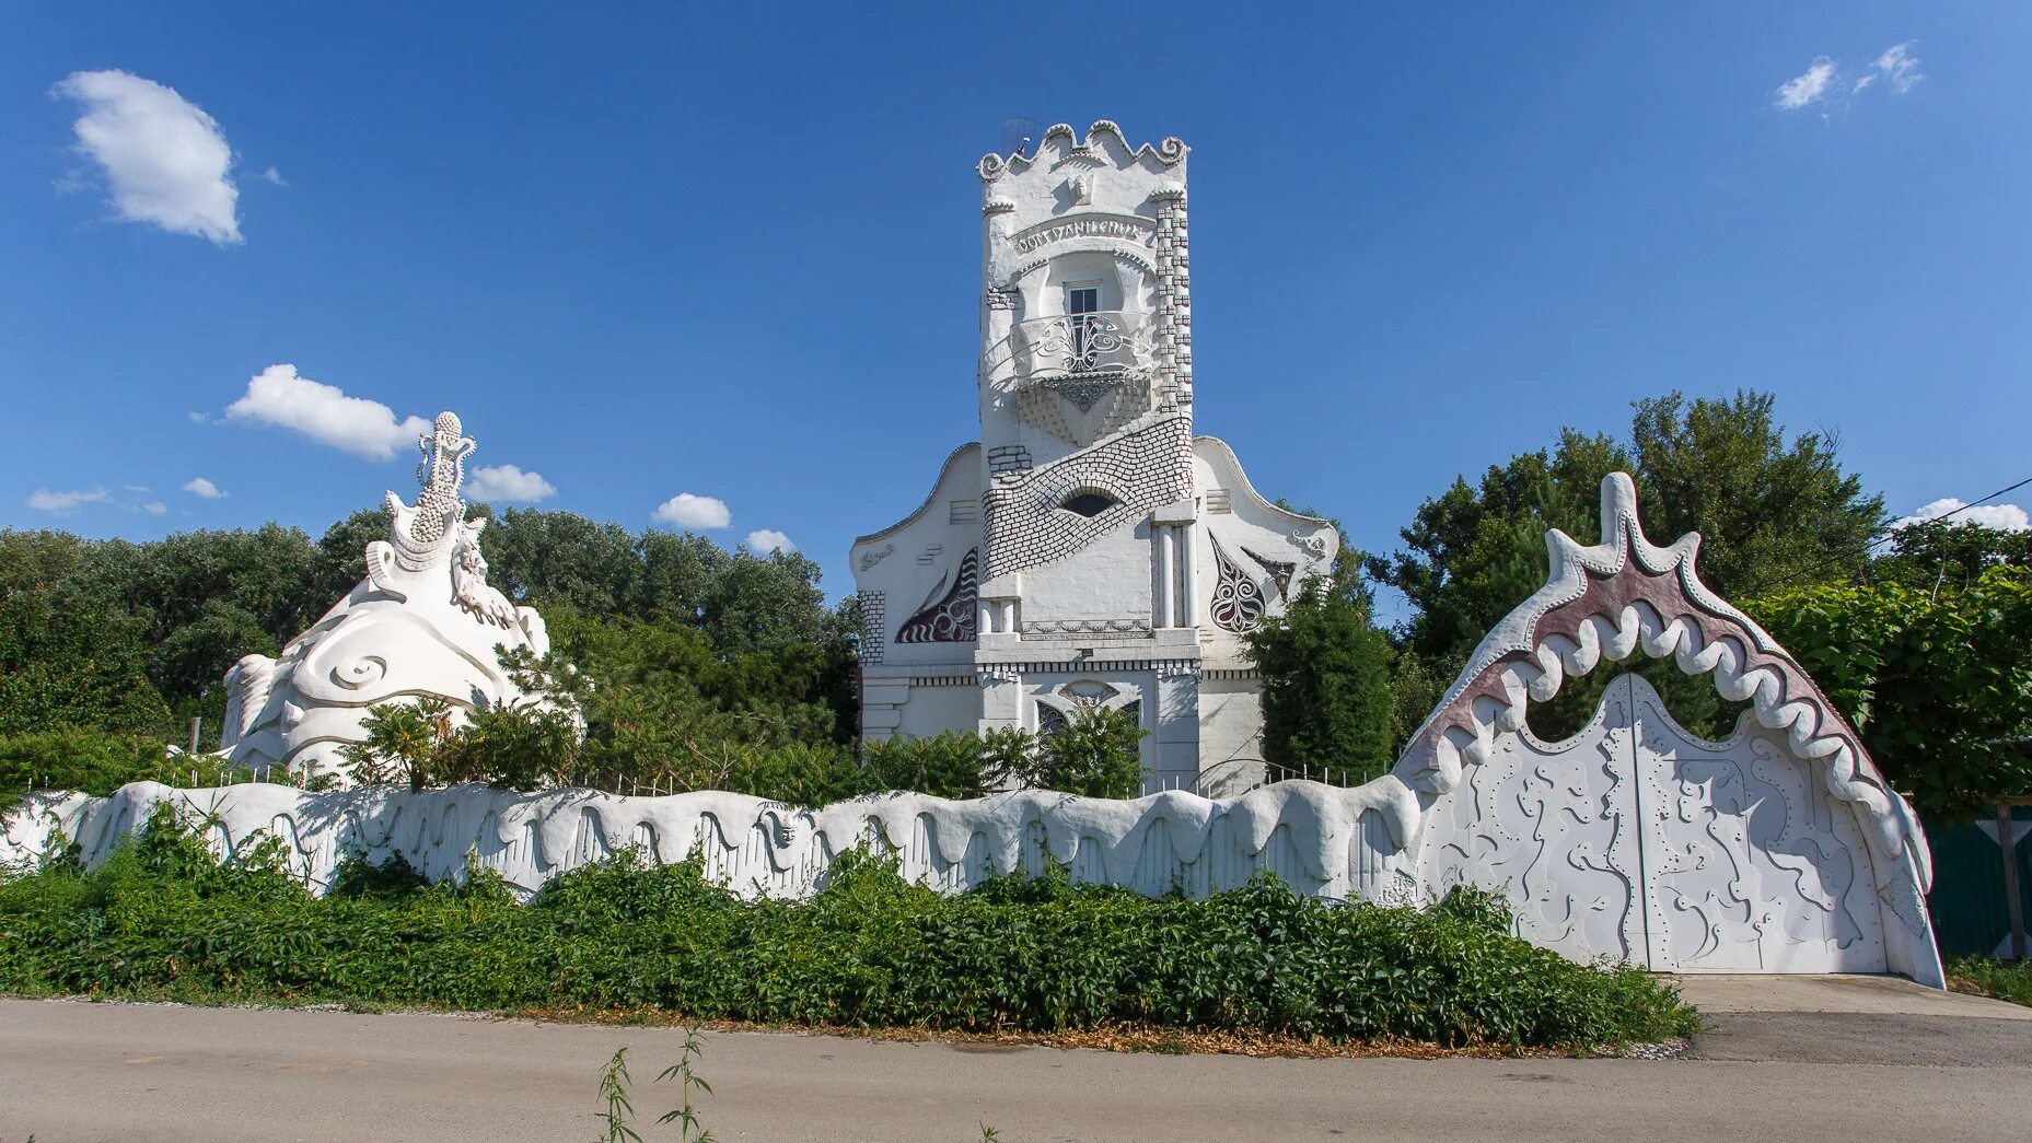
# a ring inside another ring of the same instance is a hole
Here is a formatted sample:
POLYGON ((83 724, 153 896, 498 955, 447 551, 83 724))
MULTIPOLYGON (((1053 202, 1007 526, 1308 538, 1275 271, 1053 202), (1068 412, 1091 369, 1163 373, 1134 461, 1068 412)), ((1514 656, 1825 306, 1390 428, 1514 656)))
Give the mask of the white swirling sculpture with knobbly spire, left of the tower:
POLYGON ((500 666, 502 648, 551 650, 543 617, 488 585, 486 520, 465 520, 459 485, 473 451, 441 412, 417 441, 417 503, 386 493, 386 540, 366 548, 368 575, 276 658, 246 656, 226 672, 221 751, 240 765, 284 765, 345 780, 341 747, 388 700, 439 696, 455 709, 532 698, 500 666))

